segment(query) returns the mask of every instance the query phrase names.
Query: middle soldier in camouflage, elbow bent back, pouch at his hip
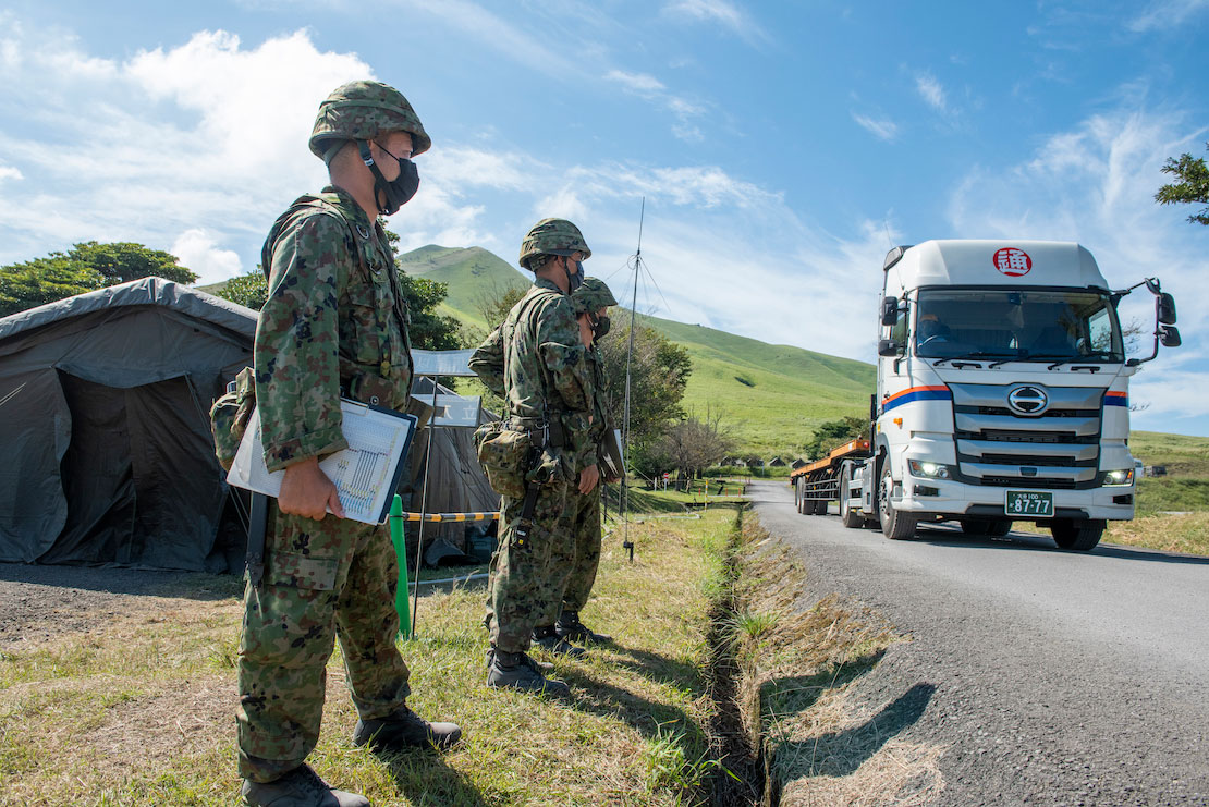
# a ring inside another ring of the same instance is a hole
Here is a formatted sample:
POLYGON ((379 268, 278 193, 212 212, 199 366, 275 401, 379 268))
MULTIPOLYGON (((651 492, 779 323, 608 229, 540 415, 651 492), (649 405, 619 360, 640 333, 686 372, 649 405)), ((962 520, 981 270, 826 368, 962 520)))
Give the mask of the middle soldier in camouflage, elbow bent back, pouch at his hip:
POLYGON ((591 256, 579 228, 544 219, 521 242, 520 263, 534 273, 533 286, 487 336, 470 368, 507 401, 509 424, 528 431, 540 455, 532 524, 522 524, 525 499, 502 497, 499 547, 491 559, 487 616, 491 637, 487 685, 567 695, 528 657, 533 626, 562 598, 573 547, 563 518, 568 490, 595 488, 600 474, 590 445, 591 379, 584 346, 567 296, 583 279, 591 256), (561 580, 551 577, 559 571, 561 580))

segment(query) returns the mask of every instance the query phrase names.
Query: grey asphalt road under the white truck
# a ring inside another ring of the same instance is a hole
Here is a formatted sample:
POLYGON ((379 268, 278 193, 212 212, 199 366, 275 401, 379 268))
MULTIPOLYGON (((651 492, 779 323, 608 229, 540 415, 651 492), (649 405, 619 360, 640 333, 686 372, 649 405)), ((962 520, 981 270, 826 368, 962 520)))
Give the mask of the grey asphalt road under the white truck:
POLYGON ((1209 805, 1209 558, 945 526, 890 541, 798 515, 783 482, 750 493, 808 599, 838 592, 910 635, 857 691, 930 693, 891 731, 948 745, 933 803, 1209 805))

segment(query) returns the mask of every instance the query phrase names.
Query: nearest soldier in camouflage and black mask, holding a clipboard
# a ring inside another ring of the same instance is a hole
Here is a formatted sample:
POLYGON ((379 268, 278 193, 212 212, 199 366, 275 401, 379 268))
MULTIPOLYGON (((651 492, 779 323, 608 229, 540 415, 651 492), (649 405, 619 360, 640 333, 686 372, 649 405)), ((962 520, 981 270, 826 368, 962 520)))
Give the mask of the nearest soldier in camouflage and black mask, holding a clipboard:
POLYGON ((360 715, 355 744, 445 748, 461 736, 456 725, 429 724, 406 707, 389 536, 345 521, 318 465, 347 447, 342 391, 406 406, 407 314, 377 217, 415 193, 411 157, 430 144, 398 91, 369 81, 340 87, 319 106, 311 135, 331 185, 299 198, 265 242, 268 298, 256 326, 255 390, 265 463, 284 478, 270 507, 264 576, 249 575, 244 598, 237 718, 248 805, 369 803, 331 790, 305 762, 319 737, 334 640, 360 715))

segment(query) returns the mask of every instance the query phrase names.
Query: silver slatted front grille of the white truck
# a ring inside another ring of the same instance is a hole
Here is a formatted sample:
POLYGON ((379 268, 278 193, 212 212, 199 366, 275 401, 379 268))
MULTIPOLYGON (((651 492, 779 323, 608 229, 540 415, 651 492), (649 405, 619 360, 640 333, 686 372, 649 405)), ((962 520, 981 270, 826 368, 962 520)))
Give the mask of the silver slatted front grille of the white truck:
POLYGON ((1043 389, 1048 407, 1016 414, 1007 395, 1016 387, 950 384, 958 477, 970 484, 1082 489, 1099 484, 1103 389, 1043 389))

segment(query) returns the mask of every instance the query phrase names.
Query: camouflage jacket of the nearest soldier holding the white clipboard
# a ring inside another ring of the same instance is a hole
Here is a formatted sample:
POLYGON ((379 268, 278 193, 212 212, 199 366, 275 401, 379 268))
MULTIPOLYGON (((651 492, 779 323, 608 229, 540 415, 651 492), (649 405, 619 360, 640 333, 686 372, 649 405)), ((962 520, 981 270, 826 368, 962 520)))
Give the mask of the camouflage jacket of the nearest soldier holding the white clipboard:
POLYGON ((256 405, 268 470, 347 448, 351 397, 403 410, 411 388, 406 302, 386 233, 336 187, 300 197, 261 252, 256 405))

